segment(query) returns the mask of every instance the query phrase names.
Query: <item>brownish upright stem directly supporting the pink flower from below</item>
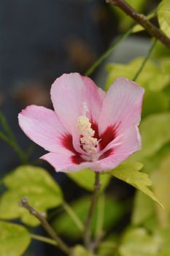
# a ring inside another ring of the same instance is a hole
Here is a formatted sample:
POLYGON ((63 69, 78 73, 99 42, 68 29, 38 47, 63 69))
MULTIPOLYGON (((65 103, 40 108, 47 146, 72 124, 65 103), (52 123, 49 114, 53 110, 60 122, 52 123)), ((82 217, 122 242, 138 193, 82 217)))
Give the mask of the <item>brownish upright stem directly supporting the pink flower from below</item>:
POLYGON ((84 231, 84 242, 85 242, 85 246, 88 249, 90 249, 90 223, 93 217, 93 212, 94 212, 94 209, 98 200, 98 194, 101 188, 100 173, 95 173, 95 175, 96 177, 95 177, 95 184, 94 184, 94 192, 93 192, 93 197, 90 203, 90 208, 88 211, 88 216, 85 221, 85 231, 84 231))

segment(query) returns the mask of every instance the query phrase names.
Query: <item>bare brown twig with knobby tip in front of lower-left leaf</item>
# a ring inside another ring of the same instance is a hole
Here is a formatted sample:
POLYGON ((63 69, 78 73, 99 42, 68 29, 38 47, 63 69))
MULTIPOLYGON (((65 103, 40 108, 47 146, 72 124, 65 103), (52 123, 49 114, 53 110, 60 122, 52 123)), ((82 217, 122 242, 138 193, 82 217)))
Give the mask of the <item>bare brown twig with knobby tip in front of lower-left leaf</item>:
POLYGON ((49 236, 51 238, 53 238, 53 240, 55 241, 56 245, 63 251, 65 252, 67 255, 70 255, 71 253, 71 249, 69 248, 69 246, 67 246, 62 240, 61 238, 58 237, 58 235, 55 233, 55 231, 53 230, 53 228, 50 226, 50 224, 47 222, 47 220, 45 219, 44 214, 39 214, 39 212, 37 212, 34 208, 32 208, 32 206, 30 206, 28 204, 28 198, 27 197, 23 197, 20 200, 20 206, 26 208, 29 213, 31 215, 34 215, 34 217, 36 217, 36 219, 39 220, 39 222, 42 224, 42 227, 45 228, 45 230, 47 231, 47 233, 49 234, 49 236))

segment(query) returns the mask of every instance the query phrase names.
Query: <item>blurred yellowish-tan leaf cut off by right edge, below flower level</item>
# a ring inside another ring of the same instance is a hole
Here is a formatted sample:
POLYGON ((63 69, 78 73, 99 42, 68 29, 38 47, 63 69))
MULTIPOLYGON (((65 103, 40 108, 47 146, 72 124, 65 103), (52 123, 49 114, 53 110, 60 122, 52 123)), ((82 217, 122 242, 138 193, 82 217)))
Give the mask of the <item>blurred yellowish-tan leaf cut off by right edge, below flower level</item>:
POLYGON ((166 156, 158 169, 152 173, 152 186, 155 192, 155 195, 159 200, 163 203, 165 210, 163 211, 161 208, 158 208, 158 217, 161 223, 161 226, 167 227, 170 221, 170 202, 169 202, 169 194, 170 194, 170 154, 166 156))

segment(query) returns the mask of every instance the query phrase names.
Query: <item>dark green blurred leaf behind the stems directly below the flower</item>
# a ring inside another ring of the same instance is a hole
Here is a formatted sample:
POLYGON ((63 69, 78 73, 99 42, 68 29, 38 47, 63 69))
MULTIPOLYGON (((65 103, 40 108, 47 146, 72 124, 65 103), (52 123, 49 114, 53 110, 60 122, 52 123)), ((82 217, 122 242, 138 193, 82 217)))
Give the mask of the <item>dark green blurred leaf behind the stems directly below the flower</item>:
MULTIPOLYGON (((71 204, 75 214, 77 214, 83 223, 85 223, 85 219, 88 214, 90 200, 90 197, 82 197, 71 204)), ((123 205, 121 203, 110 197, 106 197, 104 208, 104 230, 109 230, 112 225, 115 225, 115 223, 117 223, 117 221, 123 216, 123 211, 123 205)), ((91 230, 93 234, 96 231, 97 214, 96 207, 91 222, 91 230)), ((77 239, 82 236, 80 230, 74 225, 72 219, 65 212, 55 219, 53 226, 57 233, 67 236, 68 238, 77 239)))

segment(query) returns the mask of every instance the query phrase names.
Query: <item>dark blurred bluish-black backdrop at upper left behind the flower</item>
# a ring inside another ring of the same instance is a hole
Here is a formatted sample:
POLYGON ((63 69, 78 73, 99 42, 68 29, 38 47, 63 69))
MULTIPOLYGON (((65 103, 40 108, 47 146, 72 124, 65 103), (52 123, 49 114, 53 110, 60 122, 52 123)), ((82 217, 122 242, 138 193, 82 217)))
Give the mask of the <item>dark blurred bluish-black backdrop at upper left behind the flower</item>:
MULTIPOLYGON (((50 85, 64 72, 85 72, 117 34, 112 10, 98 0, 0 1, 0 107, 18 136, 18 111, 51 107, 50 85)), ((1 141, 1 170, 18 157, 1 141), (10 161, 9 161, 10 159, 10 161)))

